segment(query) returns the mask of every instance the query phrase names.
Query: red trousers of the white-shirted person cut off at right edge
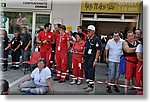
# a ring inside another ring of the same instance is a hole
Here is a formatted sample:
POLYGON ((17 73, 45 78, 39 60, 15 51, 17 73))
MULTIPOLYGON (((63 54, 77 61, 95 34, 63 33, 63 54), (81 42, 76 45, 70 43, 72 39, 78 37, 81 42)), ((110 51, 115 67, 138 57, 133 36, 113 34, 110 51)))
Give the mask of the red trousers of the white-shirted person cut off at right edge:
POLYGON ((135 78, 136 78, 137 87, 142 87, 143 86, 143 61, 138 61, 135 78))

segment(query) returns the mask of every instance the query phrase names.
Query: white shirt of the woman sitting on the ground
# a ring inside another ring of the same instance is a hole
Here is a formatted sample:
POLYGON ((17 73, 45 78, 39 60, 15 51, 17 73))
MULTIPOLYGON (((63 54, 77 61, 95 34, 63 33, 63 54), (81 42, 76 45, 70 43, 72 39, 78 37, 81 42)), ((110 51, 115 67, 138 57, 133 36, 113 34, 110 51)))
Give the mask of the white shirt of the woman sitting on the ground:
POLYGON ((36 68, 31 73, 31 77, 34 78, 34 82, 37 85, 48 86, 46 79, 51 77, 51 70, 46 67, 39 73, 39 68, 36 68))

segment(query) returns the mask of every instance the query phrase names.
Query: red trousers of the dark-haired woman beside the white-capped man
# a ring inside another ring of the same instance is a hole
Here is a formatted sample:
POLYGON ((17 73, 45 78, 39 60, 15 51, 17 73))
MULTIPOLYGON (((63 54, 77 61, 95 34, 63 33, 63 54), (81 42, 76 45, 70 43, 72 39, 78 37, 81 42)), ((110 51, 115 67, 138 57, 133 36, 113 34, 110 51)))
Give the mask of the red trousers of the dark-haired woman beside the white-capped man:
POLYGON ((72 68, 74 74, 74 77, 72 79, 82 79, 83 78, 82 58, 72 57, 72 68))

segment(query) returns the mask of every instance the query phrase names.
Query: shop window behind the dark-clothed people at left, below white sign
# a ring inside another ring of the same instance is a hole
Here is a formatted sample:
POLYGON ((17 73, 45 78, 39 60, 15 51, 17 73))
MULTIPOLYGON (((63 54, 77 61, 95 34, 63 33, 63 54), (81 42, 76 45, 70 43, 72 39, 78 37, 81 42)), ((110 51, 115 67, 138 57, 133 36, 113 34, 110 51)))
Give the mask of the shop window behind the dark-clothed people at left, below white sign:
POLYGON ((32 13, 31 12, 3 12, 4 22, 2 28, 8 32, 8 37, 12 38, 14 31, 21 34, 22 27, 27 27, 29 33, 32 32, 32 13))

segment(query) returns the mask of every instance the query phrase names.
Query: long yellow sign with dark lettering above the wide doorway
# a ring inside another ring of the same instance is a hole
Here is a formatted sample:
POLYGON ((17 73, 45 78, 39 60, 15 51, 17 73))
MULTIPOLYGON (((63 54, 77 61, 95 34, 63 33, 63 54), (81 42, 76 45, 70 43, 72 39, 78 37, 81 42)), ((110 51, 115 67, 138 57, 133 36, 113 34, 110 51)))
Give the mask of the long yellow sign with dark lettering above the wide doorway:
POLYGON ((82 0, 81 12, 141 13, 141 1, 82 0))

